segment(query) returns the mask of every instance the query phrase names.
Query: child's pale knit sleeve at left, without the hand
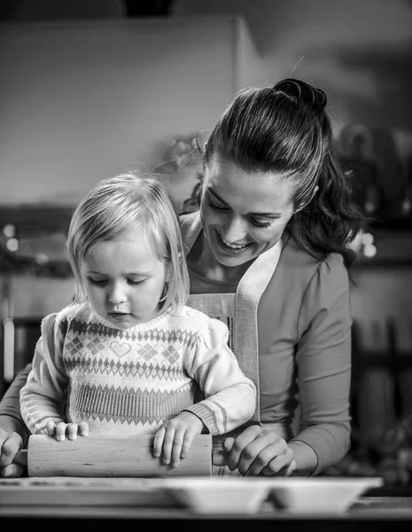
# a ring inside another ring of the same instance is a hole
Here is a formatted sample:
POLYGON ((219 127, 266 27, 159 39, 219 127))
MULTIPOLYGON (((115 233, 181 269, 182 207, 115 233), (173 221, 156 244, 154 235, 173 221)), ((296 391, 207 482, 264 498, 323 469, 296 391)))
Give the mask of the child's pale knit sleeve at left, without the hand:
POLYGON ((43 319, 27 383, 20 389, 20 412, 32 434, 48 434, 49 422, 63 422, 68 377, 63 364, 63 339, 56 314, 43 319))

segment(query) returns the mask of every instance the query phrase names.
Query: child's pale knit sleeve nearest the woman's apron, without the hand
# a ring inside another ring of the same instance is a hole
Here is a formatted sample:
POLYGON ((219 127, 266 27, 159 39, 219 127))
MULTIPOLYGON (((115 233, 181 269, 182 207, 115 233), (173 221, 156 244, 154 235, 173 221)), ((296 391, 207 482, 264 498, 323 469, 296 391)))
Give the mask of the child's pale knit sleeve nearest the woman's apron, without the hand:
POLYGON ((226 434, 249 421, 256 409, 256 387, 241 371, 228 346, 229 330, 217 319, 199 335, 196 353, 187 364, 205 395, 185 408, 203 421, 212 435, 226 434))

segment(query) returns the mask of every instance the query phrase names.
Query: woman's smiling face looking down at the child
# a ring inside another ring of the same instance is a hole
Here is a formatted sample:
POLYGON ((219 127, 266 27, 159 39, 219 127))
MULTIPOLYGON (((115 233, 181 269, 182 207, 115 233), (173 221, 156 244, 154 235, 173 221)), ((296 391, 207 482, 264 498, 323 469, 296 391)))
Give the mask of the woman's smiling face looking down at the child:
POLYGON ((250 174, 220 158, 206 168, 200 215, 222 265, 239 266, 275 246, 292 214, 291 189, 281 175, 250 174))

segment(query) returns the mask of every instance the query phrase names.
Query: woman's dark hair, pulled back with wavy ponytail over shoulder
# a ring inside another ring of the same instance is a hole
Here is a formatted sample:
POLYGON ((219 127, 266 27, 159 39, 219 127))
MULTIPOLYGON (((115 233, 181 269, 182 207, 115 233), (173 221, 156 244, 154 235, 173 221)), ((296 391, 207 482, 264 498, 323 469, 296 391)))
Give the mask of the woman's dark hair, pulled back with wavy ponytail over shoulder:
MULTIPOLYGON (((349 267, 355 254, 348 245, 366 220, 335 153, 326 103, 323 90, 295 79, 241 90, 214 126, 203 162, 206 168, 219 155, 245 172, 292 179, 296 212, 286 230, 316 258, 336 252, 349 267)), ((200 195, 199 182, 187 205, 199 204, 200 195)))

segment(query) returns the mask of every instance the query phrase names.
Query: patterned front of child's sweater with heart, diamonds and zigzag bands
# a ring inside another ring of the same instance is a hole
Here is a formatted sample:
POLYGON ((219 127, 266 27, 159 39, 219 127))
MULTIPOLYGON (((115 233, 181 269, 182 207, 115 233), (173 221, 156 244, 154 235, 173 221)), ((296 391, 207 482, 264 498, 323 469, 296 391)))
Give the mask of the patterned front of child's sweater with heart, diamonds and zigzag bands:
POLYGON ((80 318, 63 323, 61 330, 71 378, 66 413, 72 421, 88 421, 95 433, 105 423, 159 426, 193 404, 182 360, 196 347, 198 332, 120 331, 80 318))

